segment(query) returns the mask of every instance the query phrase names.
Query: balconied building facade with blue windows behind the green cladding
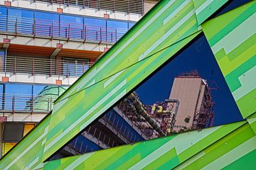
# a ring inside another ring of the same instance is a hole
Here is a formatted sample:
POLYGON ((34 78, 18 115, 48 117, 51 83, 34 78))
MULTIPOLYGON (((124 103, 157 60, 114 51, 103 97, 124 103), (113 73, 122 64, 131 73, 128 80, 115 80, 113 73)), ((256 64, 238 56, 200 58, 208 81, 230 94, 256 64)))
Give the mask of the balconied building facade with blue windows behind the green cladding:
POLYGON ((1 155, 156 2, 1 0, 1 155))

